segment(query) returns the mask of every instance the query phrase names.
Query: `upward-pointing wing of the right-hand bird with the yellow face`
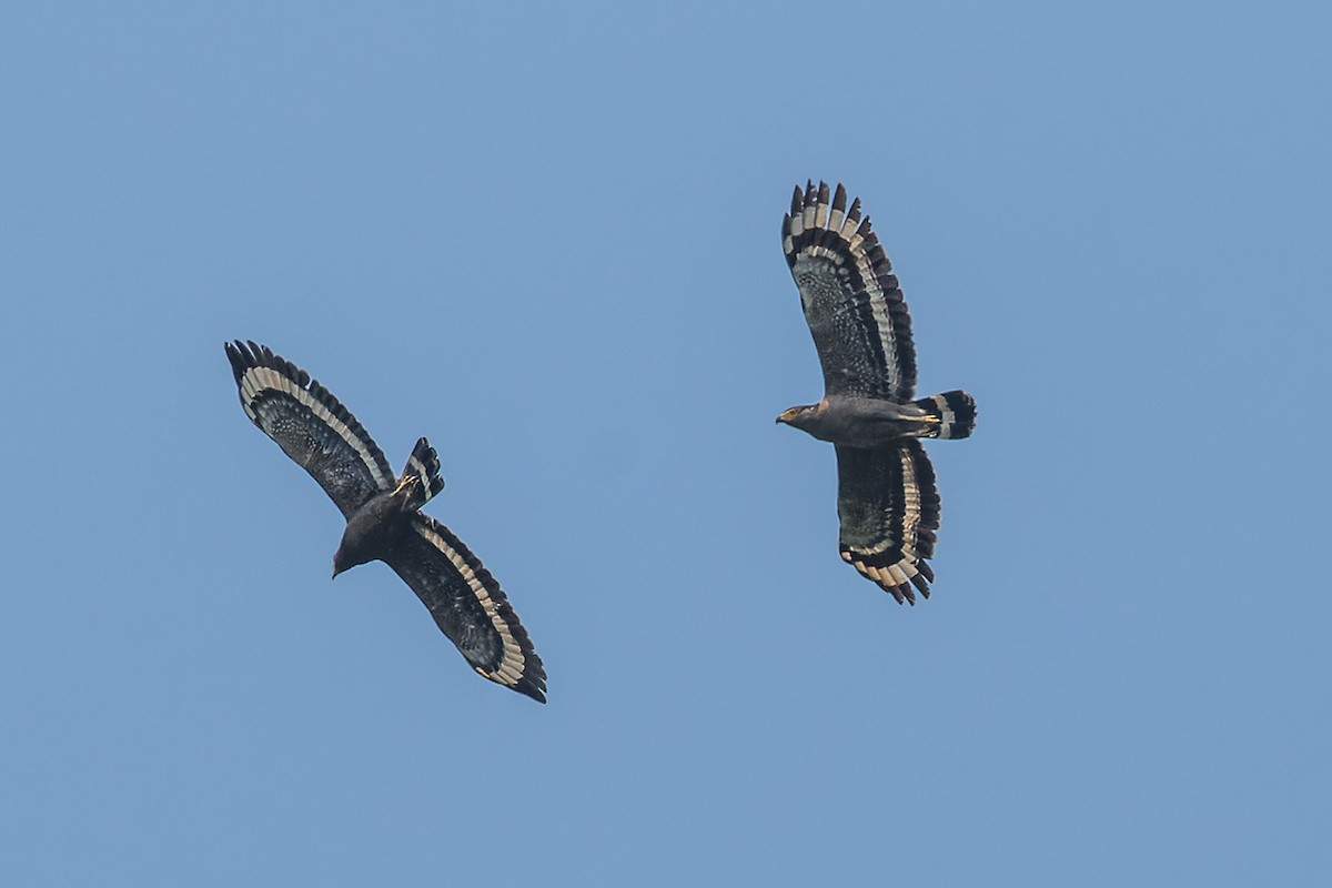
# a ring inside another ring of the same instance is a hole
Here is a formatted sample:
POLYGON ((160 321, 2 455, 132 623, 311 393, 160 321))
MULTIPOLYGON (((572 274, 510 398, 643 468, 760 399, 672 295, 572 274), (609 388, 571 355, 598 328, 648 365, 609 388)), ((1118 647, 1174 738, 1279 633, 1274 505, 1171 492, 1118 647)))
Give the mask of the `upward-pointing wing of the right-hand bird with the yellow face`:
POLYGON ((810 182, 782 221, 782 250, 801 292, 805 320, 823 365, 826 394, 911 399, 915 346, 911 316, 860 198, 810 182))

